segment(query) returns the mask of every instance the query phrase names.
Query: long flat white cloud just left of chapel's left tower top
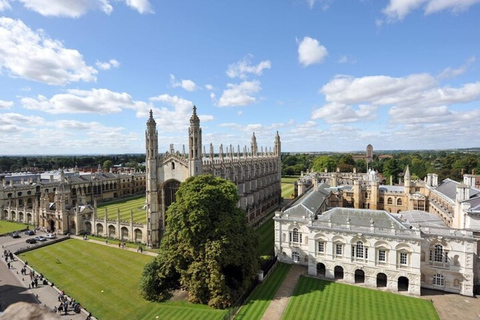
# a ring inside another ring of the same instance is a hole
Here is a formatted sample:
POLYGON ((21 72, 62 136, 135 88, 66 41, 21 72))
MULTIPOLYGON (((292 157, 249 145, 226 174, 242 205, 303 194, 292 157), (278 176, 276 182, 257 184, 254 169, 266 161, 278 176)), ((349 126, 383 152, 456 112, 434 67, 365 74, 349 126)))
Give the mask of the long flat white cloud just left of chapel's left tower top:
POLYGON ((108 89, 67 90, 67 93, 56 94, 50 99, 45 96, 22 98, 23 107, 51 114, 61 113, 98 113, 110 114, 121 112, 123 108, 137 110, 142 102, 133 101, 132 97, 123 92, 113 92, 108 89))

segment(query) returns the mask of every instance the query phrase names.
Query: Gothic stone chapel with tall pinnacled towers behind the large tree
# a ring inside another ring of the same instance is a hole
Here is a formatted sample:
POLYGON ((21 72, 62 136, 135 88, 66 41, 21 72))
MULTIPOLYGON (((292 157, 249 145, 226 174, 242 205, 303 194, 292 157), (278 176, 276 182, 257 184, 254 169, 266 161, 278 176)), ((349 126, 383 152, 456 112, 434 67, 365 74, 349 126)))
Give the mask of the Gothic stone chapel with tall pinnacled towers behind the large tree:
POLYGON ((218 152, 209 145, 208 153, 202 143, 202 128, 196 107, 188 128, 188 152, 170 150, 158 153, 158 132, 153 113, 147 121, 146 179, 147 179, 147 243, 158 246, 166 228, 165 213, 175 201, 175 192, 187 178, 201 174, 222 177, 237 185, 238 206, 247 215, 250 224, 262 219, 277 208, 281 200, 281 142, 278 132, 273 150, 260 148, 255 133, 250 148, 235 150, 232 145, 225 150, 220 145, 218 152))

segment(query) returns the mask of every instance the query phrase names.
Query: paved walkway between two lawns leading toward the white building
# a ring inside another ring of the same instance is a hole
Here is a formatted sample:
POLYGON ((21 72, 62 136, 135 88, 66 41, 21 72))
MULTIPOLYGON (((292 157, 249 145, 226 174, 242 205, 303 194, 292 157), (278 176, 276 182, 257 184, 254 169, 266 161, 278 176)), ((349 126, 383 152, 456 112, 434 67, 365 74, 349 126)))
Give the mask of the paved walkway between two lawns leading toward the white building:
POLYGON ((297 286, 300 276, 305 274, 307 269, 304 266, 294 264, 288 272, 282 285, 278 288, 275 297, 263 314, 262 320, 279 320, 282 318, 283 312, 293 295, 293 291, 297 286))

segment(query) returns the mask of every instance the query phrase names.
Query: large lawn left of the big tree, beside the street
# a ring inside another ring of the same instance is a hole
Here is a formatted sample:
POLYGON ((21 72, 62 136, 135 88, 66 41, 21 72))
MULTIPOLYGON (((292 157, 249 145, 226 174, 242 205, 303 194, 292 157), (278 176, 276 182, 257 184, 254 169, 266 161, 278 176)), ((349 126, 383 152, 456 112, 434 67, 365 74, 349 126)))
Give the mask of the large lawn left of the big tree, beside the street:
POLYGON ((154 303, 142 299, 138 286, 153 257, 66 240, 20 255, 98 319, 221 319, 225 310, 183 301, 154 303))

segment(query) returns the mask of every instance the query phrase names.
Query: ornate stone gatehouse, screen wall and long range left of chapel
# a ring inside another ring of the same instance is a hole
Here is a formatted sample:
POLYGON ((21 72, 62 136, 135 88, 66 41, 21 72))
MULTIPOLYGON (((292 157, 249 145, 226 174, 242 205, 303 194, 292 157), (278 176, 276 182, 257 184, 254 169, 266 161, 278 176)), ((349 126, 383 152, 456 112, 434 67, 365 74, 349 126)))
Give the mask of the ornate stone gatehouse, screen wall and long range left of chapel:
POLYGON ((143 195, 143 172, 81 174, 78 170, 0 177, 0 218, 60 234, 90 233, 146 242, 143 224, 121 221, 118 213, 98 219, 96 204, 143 195))

